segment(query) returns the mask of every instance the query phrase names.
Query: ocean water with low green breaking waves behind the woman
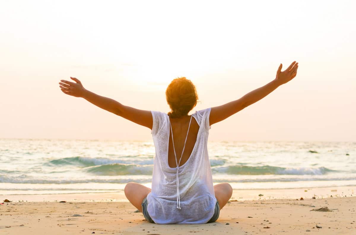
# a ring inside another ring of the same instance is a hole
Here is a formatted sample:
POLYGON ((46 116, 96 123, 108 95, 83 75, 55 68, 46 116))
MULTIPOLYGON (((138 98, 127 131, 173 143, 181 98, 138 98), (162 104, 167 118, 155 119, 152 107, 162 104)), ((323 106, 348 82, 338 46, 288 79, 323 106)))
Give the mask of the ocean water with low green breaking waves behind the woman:
MULTIPOLYGON (((234 189, 356 185, 355 142, 209 142, 214 183, 234 189)), ((0 139, 0 195, 151 186, 153 142, 0 139)))

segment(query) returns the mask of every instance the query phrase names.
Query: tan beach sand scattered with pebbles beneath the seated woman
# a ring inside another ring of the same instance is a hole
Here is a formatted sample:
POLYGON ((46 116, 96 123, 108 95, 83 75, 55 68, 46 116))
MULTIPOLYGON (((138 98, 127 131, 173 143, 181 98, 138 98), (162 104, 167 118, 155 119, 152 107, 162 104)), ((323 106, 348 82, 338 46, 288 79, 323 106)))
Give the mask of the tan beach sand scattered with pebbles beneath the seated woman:
POLYGON ((354 191, 353 186, 234 190, 216 222, 195 225, 148 223, 122 192, 6 195, 1 202, 12 202, 0 205, 0 234, 356 234, 354 191), (311 211, 321 207, 330 212, 311 211))

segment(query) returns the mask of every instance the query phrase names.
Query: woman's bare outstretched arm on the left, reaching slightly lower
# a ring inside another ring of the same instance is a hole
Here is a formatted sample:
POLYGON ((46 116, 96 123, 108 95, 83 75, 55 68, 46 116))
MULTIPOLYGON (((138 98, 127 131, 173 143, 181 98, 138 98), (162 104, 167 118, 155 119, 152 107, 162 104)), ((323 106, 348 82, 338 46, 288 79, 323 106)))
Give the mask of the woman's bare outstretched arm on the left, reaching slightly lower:
POLYGON ((70 79, 74 80, 75 82, 66 80, 61 80, 61 82, 59 82, 59 87, 64 94, 72 95, 74 97, 82 97, 88 100, 90 103, 98 106, 99 108, 105 109, 141 126, 146 126, 152 129, 153 120, 151 111, 135 109, 122 105, 116 100, 88 91, 83 87, 82 82, 80 82, 77 78, 70 77, 70 79))

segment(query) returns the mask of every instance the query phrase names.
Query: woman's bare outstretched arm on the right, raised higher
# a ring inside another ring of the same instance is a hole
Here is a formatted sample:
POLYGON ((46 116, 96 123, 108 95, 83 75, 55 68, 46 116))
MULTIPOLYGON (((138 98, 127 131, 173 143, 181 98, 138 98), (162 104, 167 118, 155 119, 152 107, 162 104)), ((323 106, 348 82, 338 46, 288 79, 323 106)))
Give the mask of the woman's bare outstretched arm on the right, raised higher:
POLYGON ((216 122, 223 121, 227 117, 237 113, 238 111, 246 108, 247 106, 256 103, 258 100, 262 99, 282 84, 292 80, 297 75, 298 63, 294 61, 283 72, 281 72, 281 69, 282 64, 279 65, 276 78, 265 86, 247 93, 240 99, 211 108, 209 124, 213 125, 216 122))

